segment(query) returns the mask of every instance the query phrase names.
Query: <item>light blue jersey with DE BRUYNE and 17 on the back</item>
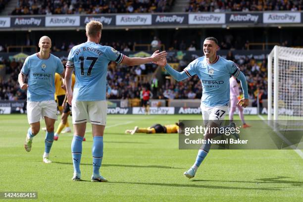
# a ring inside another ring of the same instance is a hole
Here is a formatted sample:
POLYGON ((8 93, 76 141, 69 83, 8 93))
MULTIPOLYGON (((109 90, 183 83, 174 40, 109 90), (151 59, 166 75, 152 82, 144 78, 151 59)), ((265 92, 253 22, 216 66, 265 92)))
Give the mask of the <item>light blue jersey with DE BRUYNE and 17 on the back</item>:
POLYGON ((124 55, 108 46, 86 42, 69 52, 66 67, 74 67, 76 83, 75 101, 106 100, 106 74, 110 61, 121 63, 124 55))

